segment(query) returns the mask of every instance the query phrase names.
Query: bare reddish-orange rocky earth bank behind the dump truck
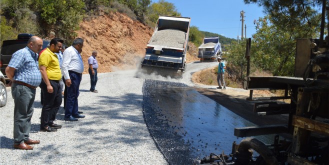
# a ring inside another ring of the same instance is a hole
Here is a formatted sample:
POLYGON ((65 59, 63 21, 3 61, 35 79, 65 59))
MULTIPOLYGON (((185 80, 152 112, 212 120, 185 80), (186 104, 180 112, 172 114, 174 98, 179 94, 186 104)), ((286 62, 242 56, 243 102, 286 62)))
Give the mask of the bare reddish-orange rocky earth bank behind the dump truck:
MULTIPOLYGON (((110 72, 136 68, 144 56, 153 29, 123 13, 115 12, 83 20, 77 33, 84 40, 81 53, 84 73, 88 71, 87 59, 92 50, 98 52, 98 72, 110 72)), ((188 45, 187 62, 197 60, 197 47, 192 43, 188 45)))

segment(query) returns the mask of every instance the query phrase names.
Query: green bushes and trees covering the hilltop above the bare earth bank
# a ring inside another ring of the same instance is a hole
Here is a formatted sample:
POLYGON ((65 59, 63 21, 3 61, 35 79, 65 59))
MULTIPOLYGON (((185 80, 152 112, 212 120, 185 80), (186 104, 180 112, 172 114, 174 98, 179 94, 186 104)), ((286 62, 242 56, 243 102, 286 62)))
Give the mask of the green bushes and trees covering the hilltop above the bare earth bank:
POLYGON ((1 0, 1 43, 17 33, 57 36, 69 43, 83 18, 119 11, 154 26, 158 15, 180 16, 173 3, 160 0, 1 0))

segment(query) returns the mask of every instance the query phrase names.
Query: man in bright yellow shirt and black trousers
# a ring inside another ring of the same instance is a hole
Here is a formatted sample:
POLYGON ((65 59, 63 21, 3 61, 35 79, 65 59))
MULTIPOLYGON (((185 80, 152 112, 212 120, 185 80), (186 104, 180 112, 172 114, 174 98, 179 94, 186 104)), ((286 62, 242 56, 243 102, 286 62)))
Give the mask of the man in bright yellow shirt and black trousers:
POLYGON ((44 100, 40 118, 41 131, 51 132, 61 128, 61 125, 55 124, 53 121, 62 101, 59 83, 62 75, 58 57, 55 54, 61 50, 62 43, 63 40, 60 38, 51 39, 49 47, 39 56, 39 69, 42 76, 40 88, 44 100))

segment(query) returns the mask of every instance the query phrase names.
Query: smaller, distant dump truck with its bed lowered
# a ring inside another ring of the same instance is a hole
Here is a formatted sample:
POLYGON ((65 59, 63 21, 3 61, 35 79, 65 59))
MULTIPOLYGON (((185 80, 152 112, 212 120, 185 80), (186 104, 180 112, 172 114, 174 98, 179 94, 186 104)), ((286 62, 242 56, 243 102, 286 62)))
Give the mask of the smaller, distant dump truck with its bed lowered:
POLYGON ((197 57, 200 60, 221 57, 221 46, 218 36, 204 37, 202 44, 198 47, 197 57))

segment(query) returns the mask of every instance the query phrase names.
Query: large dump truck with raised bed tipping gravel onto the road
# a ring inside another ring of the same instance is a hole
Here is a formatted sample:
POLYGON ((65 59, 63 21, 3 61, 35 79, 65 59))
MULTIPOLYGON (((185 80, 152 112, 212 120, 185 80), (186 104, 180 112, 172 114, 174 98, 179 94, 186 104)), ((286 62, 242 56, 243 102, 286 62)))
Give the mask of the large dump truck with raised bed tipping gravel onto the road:
POLYGON ((147 42, 141 68, 181 74, 186 69, 189 17, 160 15, 147 42))

